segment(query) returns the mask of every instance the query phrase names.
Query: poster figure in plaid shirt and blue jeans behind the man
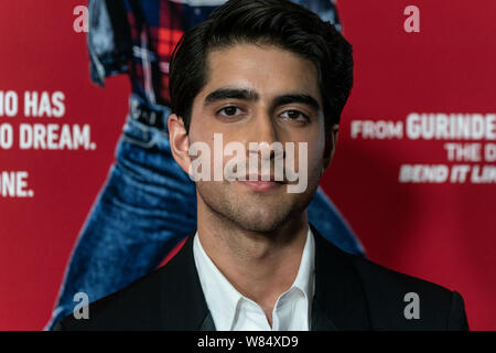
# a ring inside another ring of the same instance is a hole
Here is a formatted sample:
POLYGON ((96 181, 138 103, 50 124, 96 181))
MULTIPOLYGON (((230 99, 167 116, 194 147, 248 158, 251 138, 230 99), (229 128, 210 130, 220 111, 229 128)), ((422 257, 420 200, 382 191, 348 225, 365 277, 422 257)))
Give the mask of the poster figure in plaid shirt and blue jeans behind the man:
MULTIPOLYGON (((95 301, 122 289, 157 268, 196 228, 195 185, 175 163, 169 143, 169 63, 182 33, 224 2, 89 2, 91 78, 104 85, 107 76, 127 74, 132 87, 130 114, 116 147, 116 162, 71 256, 47 329, 73 311, 77 292, 95 301)), ((331 0, 293 2, 341 28, 331 0)), ((322 189, 309 206, 309 220, 327 240, 365 256, 322 189)))

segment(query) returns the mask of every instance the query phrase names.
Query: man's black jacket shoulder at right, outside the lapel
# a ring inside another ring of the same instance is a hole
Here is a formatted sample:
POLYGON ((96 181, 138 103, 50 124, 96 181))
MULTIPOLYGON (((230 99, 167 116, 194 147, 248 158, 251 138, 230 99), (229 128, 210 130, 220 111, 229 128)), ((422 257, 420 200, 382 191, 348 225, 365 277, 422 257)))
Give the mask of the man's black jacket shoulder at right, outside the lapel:
POLYGON ((468 329, 456 291, 337 250, 359 280, 373 330, 468 329))

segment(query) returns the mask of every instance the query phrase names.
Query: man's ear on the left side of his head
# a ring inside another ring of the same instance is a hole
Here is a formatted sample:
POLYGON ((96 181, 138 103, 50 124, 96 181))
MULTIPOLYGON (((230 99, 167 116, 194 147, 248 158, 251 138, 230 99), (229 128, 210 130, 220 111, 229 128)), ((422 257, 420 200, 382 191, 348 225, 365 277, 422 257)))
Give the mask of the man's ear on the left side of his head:
POLYGON ((171 145, 172 156, 177 164, 188 173, 191 159, 190 159, 190 138, 184 126, 184 120, 175 114, 169 116, 169 141, 171 145))

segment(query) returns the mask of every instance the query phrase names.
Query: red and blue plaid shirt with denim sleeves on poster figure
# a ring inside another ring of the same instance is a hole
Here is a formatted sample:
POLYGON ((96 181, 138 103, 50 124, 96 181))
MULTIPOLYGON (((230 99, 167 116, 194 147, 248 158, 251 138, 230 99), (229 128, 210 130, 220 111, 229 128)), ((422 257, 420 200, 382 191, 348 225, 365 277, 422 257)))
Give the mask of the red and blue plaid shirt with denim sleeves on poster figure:
MULTIPOLYGON (((169 63, 184 31, 225 0, 89 0, 91 79, 128 73, 144 101, 169 105, 169 63)), ((341 30, 332 0, 292 0, 341 30)))

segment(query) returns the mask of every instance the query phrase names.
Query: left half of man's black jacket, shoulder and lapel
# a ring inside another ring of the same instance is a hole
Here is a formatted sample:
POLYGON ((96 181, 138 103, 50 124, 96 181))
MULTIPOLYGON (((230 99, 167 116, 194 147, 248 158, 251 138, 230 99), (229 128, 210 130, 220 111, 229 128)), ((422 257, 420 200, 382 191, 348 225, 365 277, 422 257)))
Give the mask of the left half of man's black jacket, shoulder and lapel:
POLYGON ((71 314, 54 330, 191 331, 203 327, 208 308, 194 265, 192 239, 190 235, 166 265, 91 302, 88 319, 71 314))

